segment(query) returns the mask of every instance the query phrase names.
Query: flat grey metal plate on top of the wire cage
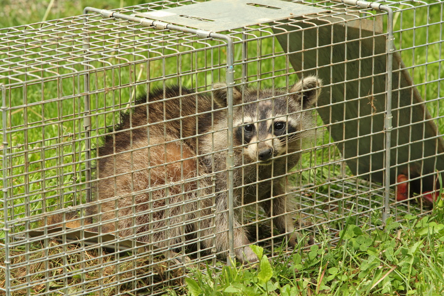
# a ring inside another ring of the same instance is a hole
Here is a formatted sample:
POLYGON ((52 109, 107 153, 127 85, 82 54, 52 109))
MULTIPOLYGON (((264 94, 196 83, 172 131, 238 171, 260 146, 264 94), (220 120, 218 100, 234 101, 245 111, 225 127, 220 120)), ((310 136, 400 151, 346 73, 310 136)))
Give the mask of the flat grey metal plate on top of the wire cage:
POLYGON ((213 0, 134 15, 221 32, 323 11, 326 10, 282 0, 213 0))

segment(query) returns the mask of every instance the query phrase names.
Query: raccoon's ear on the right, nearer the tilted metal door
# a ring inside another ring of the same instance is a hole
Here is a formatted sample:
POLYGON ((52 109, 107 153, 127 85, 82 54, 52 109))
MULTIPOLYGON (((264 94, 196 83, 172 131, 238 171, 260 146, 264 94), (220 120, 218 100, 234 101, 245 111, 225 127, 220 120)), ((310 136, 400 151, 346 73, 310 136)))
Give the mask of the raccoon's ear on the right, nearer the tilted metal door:
POLYGON ((322 79, 316 76, 308 76, 293 85, 291 89, 293 94, 291 96, 301 105, 302 109, 307 109, 317 101, 321 94, 321 86, 322 79))

